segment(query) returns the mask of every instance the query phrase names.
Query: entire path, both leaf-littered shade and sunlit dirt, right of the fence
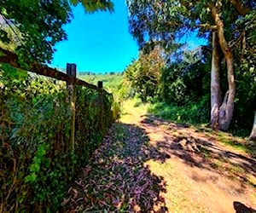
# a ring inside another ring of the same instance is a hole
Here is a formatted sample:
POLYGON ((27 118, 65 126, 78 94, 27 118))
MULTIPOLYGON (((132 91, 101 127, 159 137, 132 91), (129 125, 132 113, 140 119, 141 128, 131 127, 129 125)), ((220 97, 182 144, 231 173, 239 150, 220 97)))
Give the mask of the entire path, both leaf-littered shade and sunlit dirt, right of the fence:
POLYGON ((255 159, 213 134, 125 102, 69 188, 65 212, 255 212, 255 159))

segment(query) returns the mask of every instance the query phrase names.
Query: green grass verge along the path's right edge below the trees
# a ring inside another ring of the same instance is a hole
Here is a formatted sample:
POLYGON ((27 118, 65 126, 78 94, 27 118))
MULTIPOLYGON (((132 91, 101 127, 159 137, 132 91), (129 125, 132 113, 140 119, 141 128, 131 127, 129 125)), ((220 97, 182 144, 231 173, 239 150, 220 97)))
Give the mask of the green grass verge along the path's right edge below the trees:
MULTIPOLYGON (((226 147, 236 149, 241 153, 246 153, 252 158, 256 158, 256 143, 248 141, 247 137, 234 135, 231 132, 212 130, 208 127, 208 112, 199 104, 194 103, 185 107, 167 105, 166 103, 156 103, 148 107, 148 112, 159 118, 164 118, 175 124, 181 124, 193 128, 195 132, 205 133, 208 137, 214 138, 226 147)), ((240 132, 245 132, 240 130, 240 132)), ((240 134, 241 135, 241 134, 240 134)))

